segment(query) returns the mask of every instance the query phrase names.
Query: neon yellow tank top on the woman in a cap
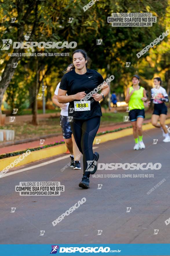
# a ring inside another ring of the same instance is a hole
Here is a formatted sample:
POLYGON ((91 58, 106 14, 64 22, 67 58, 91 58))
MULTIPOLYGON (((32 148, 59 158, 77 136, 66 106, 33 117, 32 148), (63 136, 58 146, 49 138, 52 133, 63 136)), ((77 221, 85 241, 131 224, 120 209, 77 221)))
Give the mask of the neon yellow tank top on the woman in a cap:
MULTIPOLYGON (((143 87, 140 86, 139 90, 135 90, 129 100, 129 108, 130 110, 132 109, 144 109, 144 104, 142 101, 142 97, 143 97, 143 87)), ((133 87, 131 86, 129 88, 129 94, 131 93, 131 91, 134 90, 133 87)))

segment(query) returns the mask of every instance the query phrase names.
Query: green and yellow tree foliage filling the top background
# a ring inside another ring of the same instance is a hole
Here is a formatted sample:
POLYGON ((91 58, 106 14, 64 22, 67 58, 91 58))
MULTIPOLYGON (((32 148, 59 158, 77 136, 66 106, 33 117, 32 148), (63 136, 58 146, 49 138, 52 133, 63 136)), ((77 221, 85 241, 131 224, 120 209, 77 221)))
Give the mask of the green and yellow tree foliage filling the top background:
MULTIPOLYGON (((169 78, 169 38, 164 38, 139 59, 136 54, 149 45, 155 38, 168 29, 170 13, 167 1, 96 1, 84 12, 83 6, 88 1, 58 0, 29 1, 1 0, 1 40, 11 39, 12 42, 72 42, 77 43, 76 49, 83 48, 92 60, 91 69, 100 69, 115 76, 111 90, 123 92, 131 81, 131 76, 138 72, 146 87, 154 74, 161 73, 170 87, 169 78), (150 12, 157 17, 152 27, 112 27, 107 23, 111 13, 150 12), (14 23, 11 23, 15 17, 14 23), (69 23, 69 18, 73 20, 69 23), (103 45, 96 45, 96 39, 103 39, 103 45), (126 62, 131 65, 126 68, 126 62), (108 66, 109 64, 109 66, 108 66), (109 67, 109 70, 107 70, 109 67)), ((1 41, 2 42, 2 41, 1 41)), ((2 48, 2 44, 1 44, 2 48)), ((12 49, 0 51, 1 77, 0 106, 8 86, 21 85, 28 93, 30 104, 34 108, 36 94, 41 89, 42 79, 48 84, 48 90, 55 86, 63 76, 63 70, 72 63, 74 49, 12 49), (27 52, 58 52, 70 53, 70 56, 27 57, 8 56, 9 53, 27 52), (13 63, 18 63, 13 68, 13 63), (55 75, 54 75, 55 74, 55 75)), ((23 90, 24 90, 23 89, 23 90)), ((148 87, 149 89, 149 87, 148 87)), ((8 92, 8 91, 7 91, 8 92)), ((13 104, 11 104, 13 107, 13 104)))

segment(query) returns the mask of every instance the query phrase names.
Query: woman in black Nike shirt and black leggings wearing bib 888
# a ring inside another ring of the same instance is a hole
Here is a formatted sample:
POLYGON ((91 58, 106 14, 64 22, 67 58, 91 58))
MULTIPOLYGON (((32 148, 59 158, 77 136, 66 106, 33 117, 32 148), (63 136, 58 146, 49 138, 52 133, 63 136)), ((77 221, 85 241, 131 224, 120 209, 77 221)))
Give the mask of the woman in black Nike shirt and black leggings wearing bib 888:
POLYGON ((96 172, 99 158, 92 149, 102 116, 99 101, 109 93, 109 86, 96 70, 87 68, 88 57, 84 50, 74 51, 72 57, 74 66, 61 79, 58 101, 70 102, 68 118, 78 149, 83 154, 84 174, 79 187, 87 189, 89 176, 96 172))

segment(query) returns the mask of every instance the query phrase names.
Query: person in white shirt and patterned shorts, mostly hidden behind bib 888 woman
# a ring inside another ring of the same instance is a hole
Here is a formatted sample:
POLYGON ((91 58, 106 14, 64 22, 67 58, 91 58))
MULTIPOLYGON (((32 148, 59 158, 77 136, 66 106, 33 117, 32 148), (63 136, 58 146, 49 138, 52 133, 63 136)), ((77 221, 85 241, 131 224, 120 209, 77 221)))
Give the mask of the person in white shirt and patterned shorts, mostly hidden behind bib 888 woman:
MULTIPOLYGON (((68 68, 71 65, 68 66, 68 68)), ((67 68, 67 72, 69 72, 67 68)), ((52 102, 61 108, 60 112, 60 125, 62 128, 62 133, 63 133, 63 139, 65 141, 65 145, 70 151, 70 157, 71 157, 71 165, 70 167, 74 168, 74 170, 81 170, 81 165, 80 165, 80 157, 81 153, 78 150, 78 147, 76 145, 76 142, 74 140, 74 136, 72 134, 72 130, 70 127, 70 122, 67 122, 67 117, 68 117, 68 103, 59 103, 57 99, 58 91, 59 91, 60 83, 57 85, 56 90, 54 92, 54 96, 52 97, 52 102)))

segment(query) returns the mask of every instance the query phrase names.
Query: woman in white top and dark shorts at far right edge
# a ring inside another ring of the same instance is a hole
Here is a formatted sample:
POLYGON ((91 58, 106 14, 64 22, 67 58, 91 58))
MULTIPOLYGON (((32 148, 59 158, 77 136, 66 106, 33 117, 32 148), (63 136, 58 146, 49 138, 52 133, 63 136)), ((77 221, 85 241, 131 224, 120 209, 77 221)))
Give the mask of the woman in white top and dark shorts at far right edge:
POLYGON ((163 136, 165 137, 163 142, 170 142, 170 136, 168 133, 168 126, 165 125, 167 117, 167 106, 164 102, 169 102, 168 94, 166 90, 161 86, 161 78, 156 77, 153 79, 155 87, 151 89, 151 101, 153 100, 154 111, 152 114, 152 125, 161 128, 163 136), (160 124, 158 123, 160 118, 160 124))

